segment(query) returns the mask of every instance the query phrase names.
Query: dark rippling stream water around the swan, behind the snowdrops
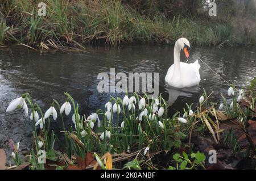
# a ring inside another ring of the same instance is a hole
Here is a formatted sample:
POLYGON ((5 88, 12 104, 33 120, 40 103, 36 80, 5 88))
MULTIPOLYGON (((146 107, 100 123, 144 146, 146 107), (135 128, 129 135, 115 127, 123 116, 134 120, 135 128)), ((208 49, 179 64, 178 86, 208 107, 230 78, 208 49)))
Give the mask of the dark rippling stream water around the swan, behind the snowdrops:
MULTIPOLYGON (((197 56, 206 62, 230 83, 243 87, 255 77, 256 53, 251 48, 196 48, 191 50, 193 62, 197 56)), ((183 60, 184 57, 181 58, 183 60)), ((110 95, 119 93, 98 93, 98 73, 115 72, 158 72, 159 92, 172 104, 174 110, 182 111, 185 103, 195 106, 203 93, 203 88, 212 91, 212 100, 218 102, 220 94, 226 96, 229 87, 213 71, 199 61, 201 82, 199 86, 174 90, 165 85, 164 77, 173 64, 173 47, 131 46, 121 49, 88 48, 88 53, 35 52, 30 49, 0 49, 0 148, 10 155, 9 140, 20 141, 20 148, 31 148, 32 125, 29 117, 22 112, 6 113, 9 102, 24 92, 29 92, 34 100, 46 111, 52 99, 61 104, 65 101, 63 92, 69 92, 80 105, 80 112, 86 116, 104 108, 110 95)), ((71 120, 71 119, 70 119, 71 120)), ((67 122, 71 124, 72 121, 67 122)), ((54 123, 53 123, 54 124, 54 123)), ((60 123, 56 123, 57 125, 60 123)))

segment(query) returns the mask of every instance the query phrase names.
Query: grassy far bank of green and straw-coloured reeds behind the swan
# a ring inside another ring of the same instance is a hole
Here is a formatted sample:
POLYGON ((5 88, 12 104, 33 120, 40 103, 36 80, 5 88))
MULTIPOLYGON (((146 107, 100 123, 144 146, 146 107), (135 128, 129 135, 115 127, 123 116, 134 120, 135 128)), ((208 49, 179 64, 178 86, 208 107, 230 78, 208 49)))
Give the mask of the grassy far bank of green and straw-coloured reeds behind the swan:
POLYGON ((181 36, 199 46, 255 45, 256 40, 255 27, 247 30, 231 20, 179 14, 166 18, 160 12, 145 16, 121 1, 48 0, 46 16, 38 16, 37 5, 37 1, 3 3, 2 46, 85 49, 88 44, 174 44, 181 36))

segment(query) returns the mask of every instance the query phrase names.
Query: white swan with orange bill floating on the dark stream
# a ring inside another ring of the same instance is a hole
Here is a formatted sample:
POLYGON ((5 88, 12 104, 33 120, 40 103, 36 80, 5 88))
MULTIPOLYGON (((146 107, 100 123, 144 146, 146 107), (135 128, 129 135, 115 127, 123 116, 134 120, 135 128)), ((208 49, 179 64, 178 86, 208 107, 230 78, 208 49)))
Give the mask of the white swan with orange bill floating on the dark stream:
POLYGON ((174 64, 168 69, 166 82, 168 85, 177 88, 191 87, 198 85, 201 78, 199 74, 200 65, 198 60, 193 64, 180 62, 180 50, 184 51, 185 57, 189 58, 190 45, 184 37, 178 39, 174 46, 174 64))

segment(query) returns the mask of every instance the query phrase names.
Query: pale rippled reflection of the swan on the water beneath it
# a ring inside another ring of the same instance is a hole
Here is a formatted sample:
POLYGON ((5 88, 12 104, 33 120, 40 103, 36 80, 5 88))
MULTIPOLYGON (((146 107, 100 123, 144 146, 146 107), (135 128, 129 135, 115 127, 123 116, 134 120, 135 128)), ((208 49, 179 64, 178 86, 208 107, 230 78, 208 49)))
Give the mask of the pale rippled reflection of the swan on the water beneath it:
POLYGON ((172 104, 174 104, 175 100, 179 96, 185 96, 187 98, 191 98, 194 93, 199 92, 199 86, 193 86, 193 87, 184 87, 184 88, 176 88, 176 87, 171 87, 168 85, 164 86, 164 89, 168 91, 169 98, 167 100, 167 106, 170 107, 172 104))

